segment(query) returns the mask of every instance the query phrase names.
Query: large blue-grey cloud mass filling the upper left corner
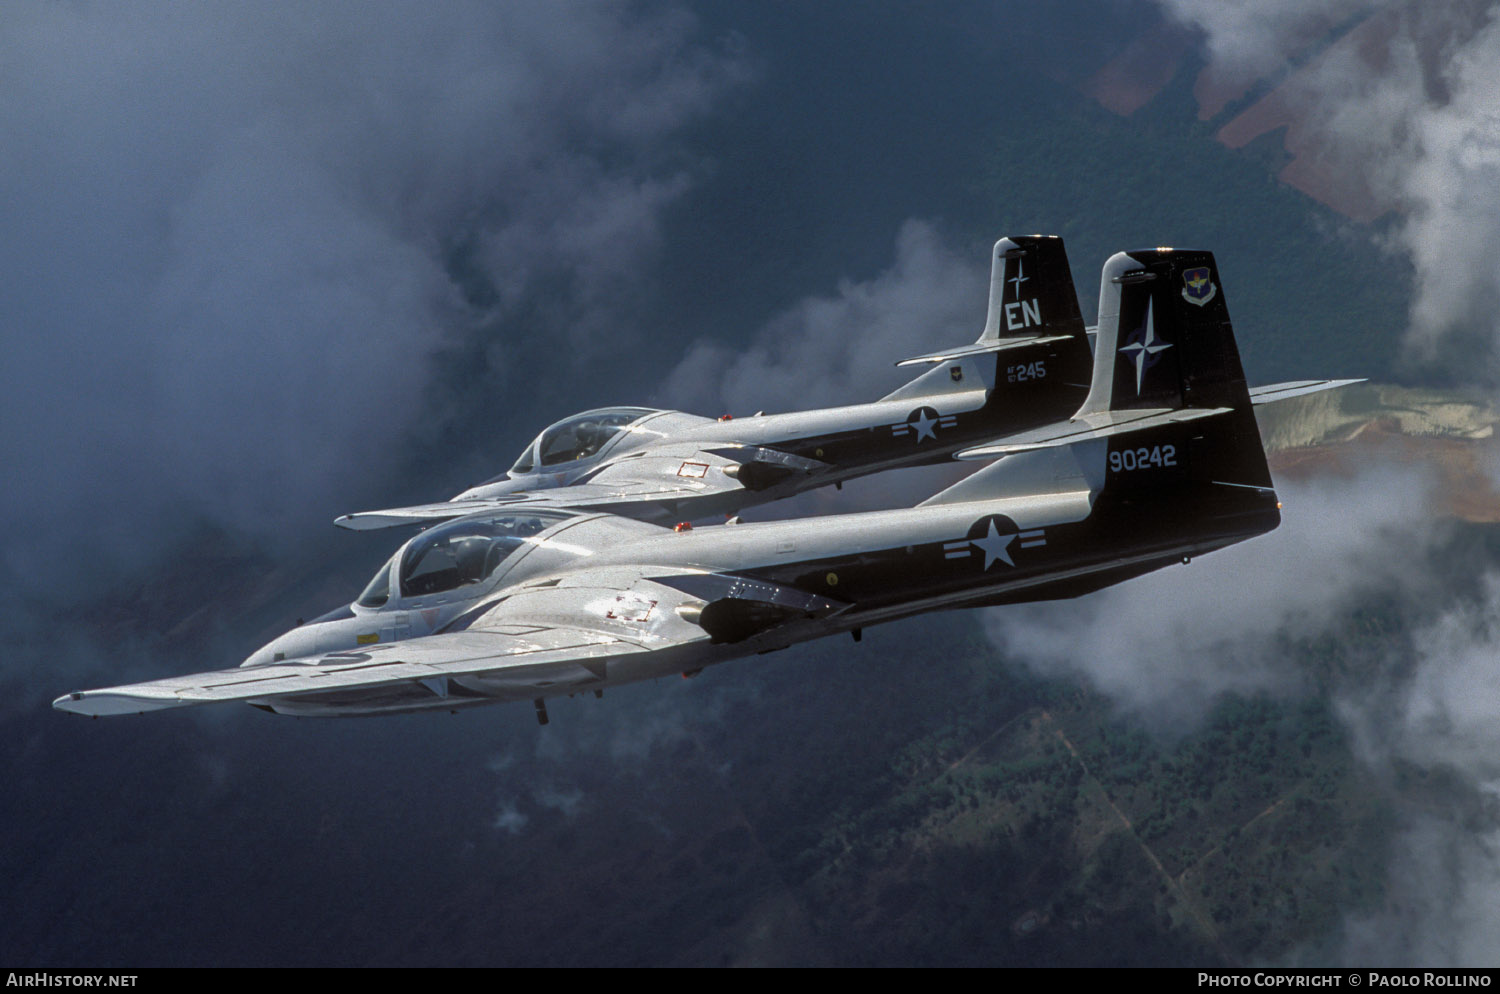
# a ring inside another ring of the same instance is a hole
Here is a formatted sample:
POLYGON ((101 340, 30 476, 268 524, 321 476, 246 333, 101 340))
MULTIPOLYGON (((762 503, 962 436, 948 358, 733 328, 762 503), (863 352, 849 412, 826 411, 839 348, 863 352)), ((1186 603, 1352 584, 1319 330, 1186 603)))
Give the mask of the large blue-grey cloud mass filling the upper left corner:
POLYGON ((0 567, 46 585, 195 516, 322 526, 420 432, 436 346, 543 285, 586 330, 692 186, 660 150, 742 78, 696 30, 624 3, 10 7, 0 567))

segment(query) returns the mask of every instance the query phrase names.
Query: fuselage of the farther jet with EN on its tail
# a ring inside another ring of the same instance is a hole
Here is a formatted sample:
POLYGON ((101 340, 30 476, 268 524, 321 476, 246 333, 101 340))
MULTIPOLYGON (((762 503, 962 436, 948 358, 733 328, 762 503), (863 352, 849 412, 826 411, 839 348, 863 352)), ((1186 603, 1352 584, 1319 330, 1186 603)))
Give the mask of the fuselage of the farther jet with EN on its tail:
POLYGON ((645 408, 584 412, 538 435, 506 475, 453 501, 576 487, 588 507, 584 487, 594 487, 610 511, 658 523, 734 514, 855 477, 944 462, 996 435, 1065 420, 1088 390, 1089 363, 1082 339, 1048 342, 939 363, 872 403, 720 420, 645 408), (624 411, 638 417, 626 421, 624 411), (620 423, 608 426, 600 444, 573 433, 579 424, 598 432, 594 424, 609 418, 620 423), (638 507, 621 505, 608 487, 622 480, 698 486, 702 493, 657 502, 644 492, 638 507))

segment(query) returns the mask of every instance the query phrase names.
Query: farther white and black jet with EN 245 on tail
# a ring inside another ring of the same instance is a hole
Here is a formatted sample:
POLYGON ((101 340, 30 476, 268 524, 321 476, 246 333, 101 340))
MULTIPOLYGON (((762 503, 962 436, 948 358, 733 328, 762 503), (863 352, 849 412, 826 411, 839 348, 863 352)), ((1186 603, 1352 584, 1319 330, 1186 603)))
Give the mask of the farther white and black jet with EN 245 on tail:
MULTIPOLYGON (((958 450, 1065 420, 1089 391, 1094 352, 1062 238, 994 243, 990 303, 974 345, 903 360, 930 366, 872 403, 705 418, 602 408, 542 432, 508 472, 436 504, 345 514, 357 531, 490 510, 609 511, 654 523, 742 508, 885 469, 945 462, 958 450)), ((1252 403, 1350 379, 1257 387, 1252 403)))

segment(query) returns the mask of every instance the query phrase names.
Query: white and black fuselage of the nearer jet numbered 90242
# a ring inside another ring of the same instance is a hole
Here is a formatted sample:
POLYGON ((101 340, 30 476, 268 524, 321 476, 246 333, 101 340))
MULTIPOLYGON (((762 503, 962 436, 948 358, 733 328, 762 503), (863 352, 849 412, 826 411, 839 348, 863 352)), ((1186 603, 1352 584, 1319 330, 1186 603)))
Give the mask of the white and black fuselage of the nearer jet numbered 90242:
MULTIPOLYGON (((486 517, 494 514, 442 528, 462 537, 486 517)), ((1082 487, 688 531, 574 514, 520 540, 482 580, 406 591, 400 574, 417 543, 434 541, 432 529, 392 559, 386 601, 356 603, 296 628, 246 666, 512 624, 564 625, 639 646, 597 669, 570 661, 518 676, 496 667, 441 697, 408 687, 267 706, 338 715, 542 699, 696 672, 930 610, 1074 597, 1269 531, 1278 520, 1274 493, 1216 484, 1155 499, 1082 487)))

